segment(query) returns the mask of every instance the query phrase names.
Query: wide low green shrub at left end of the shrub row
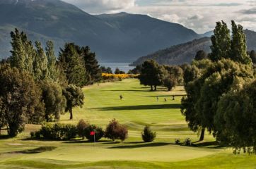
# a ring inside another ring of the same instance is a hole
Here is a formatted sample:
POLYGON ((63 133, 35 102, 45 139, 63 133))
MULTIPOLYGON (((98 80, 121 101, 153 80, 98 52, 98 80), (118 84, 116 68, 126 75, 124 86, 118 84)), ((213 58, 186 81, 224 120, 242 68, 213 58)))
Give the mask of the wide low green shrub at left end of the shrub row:
POLYGON ((42 135, 44 139, 68 140, 75 138, 76 134, 77 129, 75 125, 60 123, 52 125, 46 123, 42 125, 42 128, 38 132, 35 132, 35 137, 40 138, 42 135))

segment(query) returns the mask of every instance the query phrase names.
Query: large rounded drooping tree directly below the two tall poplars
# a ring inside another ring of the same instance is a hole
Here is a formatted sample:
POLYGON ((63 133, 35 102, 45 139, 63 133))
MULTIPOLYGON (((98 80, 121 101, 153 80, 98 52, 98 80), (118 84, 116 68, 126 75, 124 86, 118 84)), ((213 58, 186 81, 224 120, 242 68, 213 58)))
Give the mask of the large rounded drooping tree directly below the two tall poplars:
MULTIPOLYGON (((207 65, 202 75, 185 86, 187 96, 182 99, 182 114, 190 129, 207 128, 216 133, 214 116, 223 94, 239 87, 238 81, 250 82, 253 71, 250 65, 221 60, 207 65)), ((203 138, 203 137, 202 137, 203 138)))

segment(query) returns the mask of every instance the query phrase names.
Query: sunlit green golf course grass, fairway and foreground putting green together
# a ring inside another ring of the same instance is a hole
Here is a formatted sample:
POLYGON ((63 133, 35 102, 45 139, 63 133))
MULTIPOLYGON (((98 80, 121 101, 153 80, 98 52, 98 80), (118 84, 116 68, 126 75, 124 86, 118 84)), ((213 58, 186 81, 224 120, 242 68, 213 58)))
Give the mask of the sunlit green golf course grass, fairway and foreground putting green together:
MULTIPOLYGON (((27 138, 30 130, 38 126, 28 125, 26 132, 15 139, 0 139, 0 168, 253 168, 255 156, 235 156, 230 149, 187 147, 173 144, 176 138, 197 134, 187 129, 180 115, 180 99, 170 95, 184 94, 182 87, 173 92, 149 92, 137 80, 107 83, 86 87, 86 105, 74 110, 74 120, 69 114, 62 116, 62 123, 77 123, 81 118, 105 127, 109 120, 117 118, 129 127, 129 139, 113 143, 103 139, 96 145, 82 140, 48 142, 27 138), (120 101, 119 95, 124 96, 120 101), (159 96, 159 101, 156 101, 159 96), (168 99, 165 102, 163 99, 168 99), (141 130, 151 125, 157 132, 156 142, 141 142, 141 130), (57 149, 39 154, 22 154, 21 151, 39 146, 56 146, 57 149), (13 152, 10 154, 10 152, 13 152)), ((213 141, 206 136, 207 141, 213 141)))

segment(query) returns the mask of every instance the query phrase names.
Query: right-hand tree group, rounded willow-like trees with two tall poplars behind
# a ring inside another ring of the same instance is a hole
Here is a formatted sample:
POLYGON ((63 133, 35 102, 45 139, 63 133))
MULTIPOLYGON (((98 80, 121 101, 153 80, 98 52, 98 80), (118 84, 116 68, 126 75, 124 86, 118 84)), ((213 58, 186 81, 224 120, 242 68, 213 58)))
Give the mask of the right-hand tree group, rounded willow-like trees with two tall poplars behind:
POLYGON ((253 57, 243 27, 231 25, 232 34, 226 23, 216 23, 211 53, 199 51, 185 68, 187 96, 181 111, 190 129, 201 131, 200 140, 208 130, 221 144, 233 146, 234 153, 256 153, 253 57))

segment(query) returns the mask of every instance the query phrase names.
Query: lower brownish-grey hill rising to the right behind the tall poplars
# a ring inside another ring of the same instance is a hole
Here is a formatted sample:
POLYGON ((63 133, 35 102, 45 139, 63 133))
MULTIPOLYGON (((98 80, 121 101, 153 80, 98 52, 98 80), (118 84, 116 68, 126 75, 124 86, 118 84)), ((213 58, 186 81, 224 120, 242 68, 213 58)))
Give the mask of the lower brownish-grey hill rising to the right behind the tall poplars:
MULTIPOLYGON (((213 32, 206 32, 204 35, 206 37, 194 39, 193 41, 184 44, 170 46, 169 48, 161 49, 153 52, 152 54, 142 56, 131 65, 140 65, 149 59, 153 59, 158 63, 165 65, 181 65, 183 63, 190 63, 197 54, 197 51, 204 50, 206 53, 210 52, 211 38, 209 36, 212 34, 213 32)), ((248 51, 256 50, 256 32, 252 30, 245 30, 245 35, 248 51)))

